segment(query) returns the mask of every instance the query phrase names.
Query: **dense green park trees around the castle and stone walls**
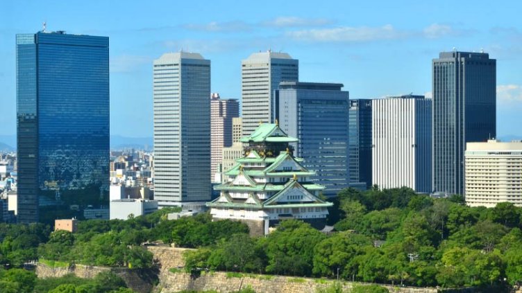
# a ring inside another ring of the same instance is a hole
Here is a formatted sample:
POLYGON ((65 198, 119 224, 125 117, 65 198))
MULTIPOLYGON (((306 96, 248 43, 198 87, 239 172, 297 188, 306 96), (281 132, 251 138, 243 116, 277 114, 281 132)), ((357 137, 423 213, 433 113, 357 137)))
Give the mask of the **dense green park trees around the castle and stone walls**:
POLYGON ((336 232, 286 220, 258 238, 240 222, 212 222, 208 213, 167 220, 171 211, 81 221, 77 233, 0 224, 0 265, 6 267, 0 269, 1 292, 132 292, 112 273, 37 279, 15 267, 32 260, 51 267, 153 267, 142 244, 155 241, 196 248, 185 253, 183 268, 195 277, 226 271, 490 292, 522 281, 522 208, 509 203, 469 207, 458 195, 432 199, 409 188, 346 189, 330 210, 336 232))

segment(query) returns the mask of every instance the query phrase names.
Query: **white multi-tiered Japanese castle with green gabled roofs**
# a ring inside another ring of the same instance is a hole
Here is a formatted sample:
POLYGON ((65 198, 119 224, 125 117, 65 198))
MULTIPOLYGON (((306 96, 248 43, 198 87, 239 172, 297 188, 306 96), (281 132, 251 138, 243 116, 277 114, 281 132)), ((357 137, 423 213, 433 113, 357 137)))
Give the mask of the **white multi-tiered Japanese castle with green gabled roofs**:
POLYGON ((244 143, 244 157, 225 174, 228 181, 214 186, 220 196, 208 202, 212 220, 240 220, 251 235, 266 235, 281 220, 298 219, 323 229, 331 202, 319 198, 324 186, 310 181, 315 172, 293 156, 298 139, 278 124, 261 124, 244 143))

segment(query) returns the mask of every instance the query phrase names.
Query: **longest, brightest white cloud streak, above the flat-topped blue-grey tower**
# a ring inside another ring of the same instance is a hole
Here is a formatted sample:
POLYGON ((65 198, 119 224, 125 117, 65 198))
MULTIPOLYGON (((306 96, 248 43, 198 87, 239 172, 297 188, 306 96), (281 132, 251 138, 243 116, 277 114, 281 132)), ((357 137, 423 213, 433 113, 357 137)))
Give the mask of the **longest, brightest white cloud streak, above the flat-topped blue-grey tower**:
POLYGON ((408 33, 396 30, 391 24, 379 27, 351 27, 323 28, 311 30, 295 30, 287 32, 292 39, 307 42, 371 42, 382 39, 399 39, 408 33))

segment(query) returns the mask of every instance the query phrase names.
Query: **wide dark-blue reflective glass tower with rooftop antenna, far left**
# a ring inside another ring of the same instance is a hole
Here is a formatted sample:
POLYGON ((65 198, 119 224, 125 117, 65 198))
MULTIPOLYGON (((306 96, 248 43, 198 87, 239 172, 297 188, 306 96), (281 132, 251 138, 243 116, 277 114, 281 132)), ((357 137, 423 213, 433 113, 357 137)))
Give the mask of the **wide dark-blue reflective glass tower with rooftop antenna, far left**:
POLYGON ((18 221, 108 205, 109 38, 17 35, 18 221))

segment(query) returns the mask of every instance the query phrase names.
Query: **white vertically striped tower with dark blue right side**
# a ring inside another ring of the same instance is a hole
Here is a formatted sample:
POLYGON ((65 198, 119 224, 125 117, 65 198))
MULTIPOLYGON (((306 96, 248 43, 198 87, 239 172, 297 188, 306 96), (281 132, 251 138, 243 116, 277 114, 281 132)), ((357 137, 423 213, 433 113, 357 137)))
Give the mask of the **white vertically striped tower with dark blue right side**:
POLYGON ((424 96, 372 100, 373 184, 431 192, 431 107, 424 96))

